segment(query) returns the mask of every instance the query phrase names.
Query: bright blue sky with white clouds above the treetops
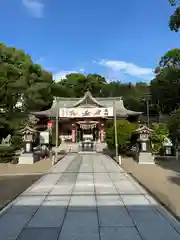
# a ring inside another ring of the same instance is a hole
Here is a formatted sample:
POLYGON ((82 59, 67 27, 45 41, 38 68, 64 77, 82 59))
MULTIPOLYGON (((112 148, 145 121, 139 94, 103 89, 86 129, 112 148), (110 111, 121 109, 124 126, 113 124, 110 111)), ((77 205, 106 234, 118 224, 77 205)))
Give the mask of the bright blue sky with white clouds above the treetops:
POLYGON ((0 41, 29 53, 59 80, 68 72, 149 81, 180 48, 168 0, 2 0, 0 41))

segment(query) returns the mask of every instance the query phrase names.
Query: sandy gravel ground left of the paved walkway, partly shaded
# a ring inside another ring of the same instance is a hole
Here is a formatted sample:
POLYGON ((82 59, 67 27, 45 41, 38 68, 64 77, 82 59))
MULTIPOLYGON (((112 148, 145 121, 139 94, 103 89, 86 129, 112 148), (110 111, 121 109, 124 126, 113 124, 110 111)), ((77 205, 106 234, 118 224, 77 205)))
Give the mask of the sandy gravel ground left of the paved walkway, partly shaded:
POLYGON ((0 164, 0 209, 25 191, 51 167, 48 160, 41 160, 33 165, 0 164))

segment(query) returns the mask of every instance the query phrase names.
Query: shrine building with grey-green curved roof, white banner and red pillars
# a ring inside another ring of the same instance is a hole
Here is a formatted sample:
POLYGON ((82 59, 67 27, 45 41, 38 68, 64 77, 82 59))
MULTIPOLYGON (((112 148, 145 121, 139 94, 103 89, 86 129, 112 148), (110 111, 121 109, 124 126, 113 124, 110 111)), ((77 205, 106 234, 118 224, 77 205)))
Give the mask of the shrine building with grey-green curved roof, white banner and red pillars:
POLYGON ((86 92, 82 98, 54 99, 52 107, 46 111, 34 112, 40 124, 47 126, 48 121, 59 122, 59 137, 73 143, 82 141, 91 136, 94 141, 105 140, 105 124, 108 119, 114 118, 114 108, 117 119, 137 121, 140 112, 125 108, 121 97, 94 98, 86 92), (115 107, 114 107, 115 106, 115 107))

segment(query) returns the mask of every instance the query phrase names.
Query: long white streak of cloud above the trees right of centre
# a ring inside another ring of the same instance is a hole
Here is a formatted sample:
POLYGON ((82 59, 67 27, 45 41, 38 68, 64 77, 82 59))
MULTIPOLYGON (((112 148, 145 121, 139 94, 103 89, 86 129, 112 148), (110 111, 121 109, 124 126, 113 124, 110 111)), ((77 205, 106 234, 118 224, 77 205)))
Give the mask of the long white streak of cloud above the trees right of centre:
POLYGON ((123 73, 144 80, 151 80, 154 76, 154 70, 152 68, 139 67, 134 63, 125 61, 101 59, 100 61, 94 61, 94 63, 111 69, 113 72, 116 72, 116 75, 123 73))

